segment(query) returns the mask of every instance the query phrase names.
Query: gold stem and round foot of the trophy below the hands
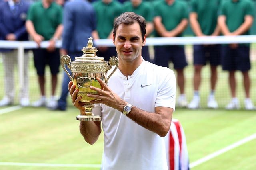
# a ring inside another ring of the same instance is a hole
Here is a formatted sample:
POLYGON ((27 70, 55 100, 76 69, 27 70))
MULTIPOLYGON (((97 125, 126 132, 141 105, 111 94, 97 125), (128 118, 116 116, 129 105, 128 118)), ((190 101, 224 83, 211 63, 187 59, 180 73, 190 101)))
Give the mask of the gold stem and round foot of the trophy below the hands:
POLYGON ((85 104, 85 115, 78 115, 76 120, 80 121, 101 121, 101 117, 92 113, 93 104, 85 104))

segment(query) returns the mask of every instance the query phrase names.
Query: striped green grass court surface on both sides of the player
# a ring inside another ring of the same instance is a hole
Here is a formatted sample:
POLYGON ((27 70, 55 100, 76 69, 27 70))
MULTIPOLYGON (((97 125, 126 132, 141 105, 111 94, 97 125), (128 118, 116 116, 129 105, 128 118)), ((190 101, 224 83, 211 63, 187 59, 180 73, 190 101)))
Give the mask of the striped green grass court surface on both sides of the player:
MULTIPOLYGON (((103 134, 94 145, 79 132, 78 111, 22 108, 0 115, 0 162, 100 164, 103 134)), ((186 133, 190 163, 256 133, 255 111, 176 109, 186 133)), ((252 170, 256 139, 210 159, 192 170, 252 170)), ((6 166, 1 170, 98 170, 86 167, 6 166)))

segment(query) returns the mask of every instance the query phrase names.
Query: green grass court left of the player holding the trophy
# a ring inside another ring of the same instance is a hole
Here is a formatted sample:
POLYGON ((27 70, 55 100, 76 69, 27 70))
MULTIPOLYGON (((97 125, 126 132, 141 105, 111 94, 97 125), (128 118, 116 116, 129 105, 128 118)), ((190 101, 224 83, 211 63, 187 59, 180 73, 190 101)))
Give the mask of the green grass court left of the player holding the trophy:
MULTIPOLYGON (((85 143, 76 113, 75 108, 61 112, 28 107, 0 115, 0 162, 100 164, 103 139, 92 146, 85 143)), ((28 169, 0 166, 3 168, 28 169)))

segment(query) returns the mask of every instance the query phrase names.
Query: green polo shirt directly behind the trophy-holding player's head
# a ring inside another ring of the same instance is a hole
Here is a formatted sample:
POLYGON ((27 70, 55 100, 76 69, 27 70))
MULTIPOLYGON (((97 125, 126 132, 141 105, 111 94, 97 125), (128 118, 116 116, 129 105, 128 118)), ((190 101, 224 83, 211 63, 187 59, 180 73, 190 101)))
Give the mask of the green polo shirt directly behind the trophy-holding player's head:
POLYGON ((132 6, 132 2, 125 1, 123 4, 123 12, 135 12, 145 18, 147 22, 153 21, 153 7, 151 2, 142 1, 138 6, 132 6))

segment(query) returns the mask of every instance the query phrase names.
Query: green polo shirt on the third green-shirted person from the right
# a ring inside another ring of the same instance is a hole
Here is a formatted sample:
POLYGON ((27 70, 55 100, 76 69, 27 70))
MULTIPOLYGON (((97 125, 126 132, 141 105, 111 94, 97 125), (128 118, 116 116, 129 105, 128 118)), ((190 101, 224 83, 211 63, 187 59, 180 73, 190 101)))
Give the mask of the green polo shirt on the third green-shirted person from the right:
MULTIPOLYGON (((154 3, 154 17, 160 16, 167 31, 174 29, 184 18, 188 19, 188 6, 182 0, 175 0, 168 5, 165 0, 154 3)), ((182 36, 182 33, 178 37, 182 36)), ((156 33, 156 37, 160 37, 156 33)))

